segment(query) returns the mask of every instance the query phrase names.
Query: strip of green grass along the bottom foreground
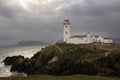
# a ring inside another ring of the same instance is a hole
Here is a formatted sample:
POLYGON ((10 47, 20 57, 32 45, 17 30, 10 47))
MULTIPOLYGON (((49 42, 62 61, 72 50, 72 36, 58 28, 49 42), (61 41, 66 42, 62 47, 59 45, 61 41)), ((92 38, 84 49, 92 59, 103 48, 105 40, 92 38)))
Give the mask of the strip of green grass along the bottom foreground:
POLYGON ((120 80, 120 78, 87 75, 72 75, 72 76, 36 75, 29 77, 7 77, 0 78, 0 80, 120 80))

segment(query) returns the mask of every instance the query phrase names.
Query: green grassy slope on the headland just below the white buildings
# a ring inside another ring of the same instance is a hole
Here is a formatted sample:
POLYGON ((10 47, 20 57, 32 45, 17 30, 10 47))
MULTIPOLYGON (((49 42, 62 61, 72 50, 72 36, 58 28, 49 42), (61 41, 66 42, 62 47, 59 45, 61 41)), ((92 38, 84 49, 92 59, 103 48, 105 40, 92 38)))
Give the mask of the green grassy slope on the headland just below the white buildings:
MULTIPOLYGON (((87 46, 87 45, 86 45, 87 46)), ((91 50, 89 48, 81 48, 80 45, 74 44, 61 44, 56 43, 54 45, 50 45, 44 49, 47 54, 56 53, 57 56, 64 58, 64 59, 71 59, 73 61, 81 61, 84 59, 94 59, 101 54, 107 52, 107 50, 91 50), (60 50, 63 54, 61 54, 60 50)))

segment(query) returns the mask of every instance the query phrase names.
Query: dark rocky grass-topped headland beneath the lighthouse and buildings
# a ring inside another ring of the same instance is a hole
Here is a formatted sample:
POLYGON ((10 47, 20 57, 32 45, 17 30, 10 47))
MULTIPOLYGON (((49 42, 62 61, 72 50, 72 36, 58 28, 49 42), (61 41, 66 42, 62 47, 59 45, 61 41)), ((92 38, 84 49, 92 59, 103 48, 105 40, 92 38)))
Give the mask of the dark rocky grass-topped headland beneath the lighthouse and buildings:
POLYGON ((33 57, 7 57, 3 62, 12 65, 11 71, 28 75, 104 75, 120 77, 120 45, 74 45, 56 43, 43 48, 33 57))

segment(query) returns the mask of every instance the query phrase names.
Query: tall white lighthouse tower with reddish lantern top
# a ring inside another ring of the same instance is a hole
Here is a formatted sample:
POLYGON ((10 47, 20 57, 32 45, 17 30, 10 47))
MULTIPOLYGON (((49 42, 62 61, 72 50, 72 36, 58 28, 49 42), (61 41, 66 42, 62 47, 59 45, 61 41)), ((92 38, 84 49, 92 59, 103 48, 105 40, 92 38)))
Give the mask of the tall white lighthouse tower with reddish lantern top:
POLYGON ((67 42, 67 40, 70 38, 70 21, 69 19, 64 20, 64 42, 67 42))

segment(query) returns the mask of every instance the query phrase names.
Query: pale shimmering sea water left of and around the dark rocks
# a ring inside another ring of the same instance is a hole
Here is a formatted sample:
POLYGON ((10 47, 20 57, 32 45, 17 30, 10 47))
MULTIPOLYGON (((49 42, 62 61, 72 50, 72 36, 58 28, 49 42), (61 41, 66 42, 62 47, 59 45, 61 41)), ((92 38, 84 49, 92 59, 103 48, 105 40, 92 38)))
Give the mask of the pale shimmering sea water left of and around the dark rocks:
POLYGON ((10 72, 11 66, 5 66, 2 62, 8 56, 22 55, 24 57, 32 57, 36 52, 40 51, 44 46, 19 46, 19 47, 0 47, 0 77, 9 76, 27 76, 24 73, 10 72))

